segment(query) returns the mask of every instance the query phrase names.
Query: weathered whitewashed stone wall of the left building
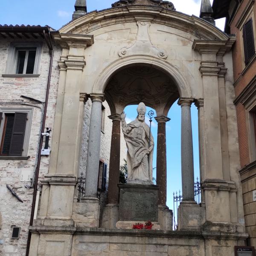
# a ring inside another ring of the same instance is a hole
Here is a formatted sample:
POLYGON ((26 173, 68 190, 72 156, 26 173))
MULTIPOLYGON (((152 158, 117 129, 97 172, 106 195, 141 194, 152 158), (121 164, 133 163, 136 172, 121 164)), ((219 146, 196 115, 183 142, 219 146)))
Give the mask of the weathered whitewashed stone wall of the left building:
MULTIPOLYGON (((23 40, 26 41, 26 40, 23 40)), ((42 104, 20 98, 21 95, 29 96, 44 102, 47 88, 49 72, 49 49, 43 44, 41 60, 39 66, 39 77, 34 78, 7 78, 2 77, 6 72, 6 61, 8 57, 10 40, 0 42, 0 109, 1 108, 32 108, 32 126, 29 137, 28 160, 0 160, 0 212, 2 215, 2 228, 0 229, 0 254, 5 256, 24 256, 26 253, 26 243, 28 227, 32 206, 33 189, 28 189, 25 185, 30 182, 21 182, 20 175, 23 170, 29 170, 31 177, 35 171, 37 158, 37 148, 39 141, 39 131, 41 127, 42 104), (29 105, 22 105, 22 104, 29 105), (13 188, 17 195, 24 201, 19 202, 6 188, 6 184, 13 188), (11 239, 12 225, 21 227, 20 239, 11 239)), ((15 41, 17 42, 17 40, 15 41)), ((49 102, 47 108, 46 127, 53 128, 55 103, 58 90, 58 63, 61 54, 59 48, 54 49, 54 60, 52 68, 51 85, 49 92, 49 102)), ((51 137, 49 139, 51 145, 51 137)), ((48 172, 49 157, 42 157, 39 180, 48 172)))

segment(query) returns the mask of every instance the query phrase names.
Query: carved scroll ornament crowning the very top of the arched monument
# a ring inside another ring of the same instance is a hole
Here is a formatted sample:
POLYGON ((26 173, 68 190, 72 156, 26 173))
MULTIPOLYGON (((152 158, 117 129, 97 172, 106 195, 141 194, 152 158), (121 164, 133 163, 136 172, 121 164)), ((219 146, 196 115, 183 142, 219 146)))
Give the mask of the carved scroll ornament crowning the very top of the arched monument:
POLYGON ((173 3, 163 0, 120 0, 112 4, 112 7, 122 7, 129 5, 145 5, 145 6, 160 6, 168 10, 175 11, 173 3))

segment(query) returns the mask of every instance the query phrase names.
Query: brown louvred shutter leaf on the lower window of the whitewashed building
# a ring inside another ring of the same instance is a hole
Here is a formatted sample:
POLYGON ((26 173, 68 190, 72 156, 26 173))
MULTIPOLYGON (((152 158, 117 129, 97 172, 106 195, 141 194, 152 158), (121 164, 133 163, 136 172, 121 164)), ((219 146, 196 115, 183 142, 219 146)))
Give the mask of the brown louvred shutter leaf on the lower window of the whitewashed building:
POLYGON ((10 156, 22 156, 23 143, 26 131, 27 113, 16 112, 12 129, 10 156))

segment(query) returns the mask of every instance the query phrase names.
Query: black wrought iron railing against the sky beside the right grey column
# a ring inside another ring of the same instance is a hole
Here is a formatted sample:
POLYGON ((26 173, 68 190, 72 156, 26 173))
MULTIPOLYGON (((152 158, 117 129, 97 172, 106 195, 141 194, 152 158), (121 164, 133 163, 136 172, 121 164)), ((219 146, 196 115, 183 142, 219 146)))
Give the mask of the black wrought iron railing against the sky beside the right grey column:
MULTIPOLYGON (((198 179, 196 178, 195 182, 195 201, 200 204, 201 203, 201 183, 198 179)), ((183 196, 179 192, 173 192, 173 225, 174 225, 174 230, 178 230, 178 224, 177 224, 177 218, 178 218, 178 207, 180 205, 180 201, 182 201, 183 196)))

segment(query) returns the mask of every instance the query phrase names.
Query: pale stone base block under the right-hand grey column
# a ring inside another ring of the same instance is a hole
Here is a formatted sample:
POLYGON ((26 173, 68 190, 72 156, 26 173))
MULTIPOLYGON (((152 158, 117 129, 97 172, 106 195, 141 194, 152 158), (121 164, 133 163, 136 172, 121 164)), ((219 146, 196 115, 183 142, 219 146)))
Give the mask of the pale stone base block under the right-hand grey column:
POLYGON ((183 201, 178 208, 178 230, 200 231, 205 208, 192 201, 183 201))

